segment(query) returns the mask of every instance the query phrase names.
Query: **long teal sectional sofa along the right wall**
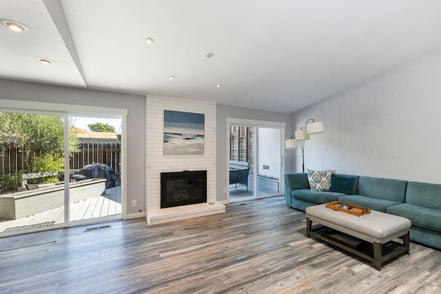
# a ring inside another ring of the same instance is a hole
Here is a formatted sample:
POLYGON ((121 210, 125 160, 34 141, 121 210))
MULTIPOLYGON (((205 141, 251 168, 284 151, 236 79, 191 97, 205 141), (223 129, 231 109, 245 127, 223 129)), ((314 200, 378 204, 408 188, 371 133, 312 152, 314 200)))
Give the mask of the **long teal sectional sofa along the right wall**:
POLYGON ((402 216, 412 222, 411 241, 441 249, 441 185, 347 174, 335 176, 350 182, 346 182, 344 189, 333 189, 331 184, 330 191, 311 191, 307 173, 285 174, 287 206, 305 211, 311 205, 341 201, 402 216))

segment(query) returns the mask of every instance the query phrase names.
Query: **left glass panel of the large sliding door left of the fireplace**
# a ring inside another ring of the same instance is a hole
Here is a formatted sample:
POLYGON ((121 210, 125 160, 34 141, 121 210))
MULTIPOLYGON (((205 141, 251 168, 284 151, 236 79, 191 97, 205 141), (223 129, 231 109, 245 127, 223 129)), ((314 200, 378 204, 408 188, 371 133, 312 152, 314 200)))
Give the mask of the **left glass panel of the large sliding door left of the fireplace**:
POLYGON ((64 224, 66 129, 62 115, 0 112, 0 233, 64 224))

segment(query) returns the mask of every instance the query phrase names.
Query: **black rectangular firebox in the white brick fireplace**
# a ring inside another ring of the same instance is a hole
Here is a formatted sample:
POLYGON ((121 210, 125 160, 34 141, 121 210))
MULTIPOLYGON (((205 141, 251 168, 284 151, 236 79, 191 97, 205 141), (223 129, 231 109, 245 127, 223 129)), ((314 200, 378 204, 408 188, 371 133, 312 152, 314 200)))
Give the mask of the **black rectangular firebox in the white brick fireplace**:
POLYGON ((207 171, 161 173, 161 208, 207 202, 207 171))

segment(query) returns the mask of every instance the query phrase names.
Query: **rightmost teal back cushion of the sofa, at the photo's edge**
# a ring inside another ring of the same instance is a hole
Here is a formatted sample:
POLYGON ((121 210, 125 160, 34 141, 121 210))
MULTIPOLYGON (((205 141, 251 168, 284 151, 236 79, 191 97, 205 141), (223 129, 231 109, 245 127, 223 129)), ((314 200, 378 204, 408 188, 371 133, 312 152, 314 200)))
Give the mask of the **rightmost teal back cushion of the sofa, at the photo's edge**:
POLYGON ((409 182, 406 203, 431 209, 441 209, 441 185, 427 182, 409 182))

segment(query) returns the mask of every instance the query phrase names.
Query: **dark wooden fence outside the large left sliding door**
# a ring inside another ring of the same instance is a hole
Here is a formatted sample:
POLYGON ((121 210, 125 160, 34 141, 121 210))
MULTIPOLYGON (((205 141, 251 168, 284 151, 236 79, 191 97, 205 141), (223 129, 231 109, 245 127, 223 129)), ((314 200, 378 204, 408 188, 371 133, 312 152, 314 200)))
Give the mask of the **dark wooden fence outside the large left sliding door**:
MULTIPOLYGON (((117 175, 121 174, 120 143, 81 143, 80 149, 81 151, 75 152, 70 158, 70 169, 81 169, 85 165, 103 163, 112 167, 117 175)), ((26 169, 21 153, 12 143, 3 146, 0 154, 0 175, 26 169)), ((32 155, 41 156, 41 151, 36 151, 32 155)))

